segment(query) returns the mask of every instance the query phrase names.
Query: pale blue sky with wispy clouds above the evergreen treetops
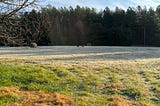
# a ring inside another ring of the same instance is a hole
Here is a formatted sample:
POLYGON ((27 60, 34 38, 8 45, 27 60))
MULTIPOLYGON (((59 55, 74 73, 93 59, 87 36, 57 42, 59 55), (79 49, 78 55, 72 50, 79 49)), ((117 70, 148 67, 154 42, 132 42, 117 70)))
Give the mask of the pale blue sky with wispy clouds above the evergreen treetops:
POLYGON ((97 10, 104 9, 108 6, 114 9, 116 6, 127 9, 129 6, 136 7, 146 6, 147 8, 153 7, 154 9, 160 5, 160 0, 41 0, 43 5, 53 5, 55 7, 75 7, 76 5, 94 7, 97 10))

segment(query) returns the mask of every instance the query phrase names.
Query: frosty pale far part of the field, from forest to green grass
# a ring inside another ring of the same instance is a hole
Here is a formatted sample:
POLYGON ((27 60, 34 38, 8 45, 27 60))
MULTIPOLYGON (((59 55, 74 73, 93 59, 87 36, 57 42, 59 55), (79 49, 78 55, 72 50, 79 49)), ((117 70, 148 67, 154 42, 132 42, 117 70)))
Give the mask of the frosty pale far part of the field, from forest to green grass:
POLYGON ((159 47, 39 46, 0 48, 0 61, 31 64, 102 66, 160 60, 159 47))

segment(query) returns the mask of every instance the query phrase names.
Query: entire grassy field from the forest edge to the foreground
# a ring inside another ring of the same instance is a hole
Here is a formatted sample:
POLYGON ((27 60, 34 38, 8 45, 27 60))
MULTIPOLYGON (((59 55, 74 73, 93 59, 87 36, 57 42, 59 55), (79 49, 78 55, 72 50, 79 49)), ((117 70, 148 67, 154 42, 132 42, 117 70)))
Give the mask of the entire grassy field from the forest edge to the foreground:
POLYGON ((160 106, 159 48, 0 50, 0 106, 160 106))

